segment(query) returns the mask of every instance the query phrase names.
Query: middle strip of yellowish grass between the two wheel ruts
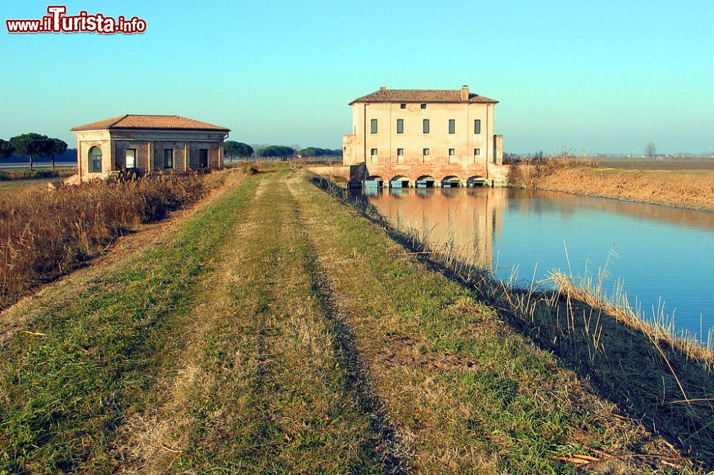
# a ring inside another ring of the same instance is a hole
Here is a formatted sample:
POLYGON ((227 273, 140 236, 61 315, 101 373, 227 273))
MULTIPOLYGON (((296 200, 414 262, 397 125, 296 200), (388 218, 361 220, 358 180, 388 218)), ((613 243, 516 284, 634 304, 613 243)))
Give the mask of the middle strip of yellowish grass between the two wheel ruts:
POLYGON ((379 473, 313 290, 314 250, 281 169, 261 184, 233 246, 231 300, 207 335, 188 439, 171 471, 379 473))

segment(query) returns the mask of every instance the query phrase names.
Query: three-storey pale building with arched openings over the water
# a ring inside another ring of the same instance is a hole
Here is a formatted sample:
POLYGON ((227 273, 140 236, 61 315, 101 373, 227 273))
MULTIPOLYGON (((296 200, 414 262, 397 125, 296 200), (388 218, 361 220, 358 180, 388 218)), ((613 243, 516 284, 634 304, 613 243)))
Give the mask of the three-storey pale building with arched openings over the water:
POLYGON ((357 98, 352 133, 343 137, 351 180, 429 181, 461 186, 493 180, 503 136, 493 133, 498 101, 461 90, 387 89, 357 98))

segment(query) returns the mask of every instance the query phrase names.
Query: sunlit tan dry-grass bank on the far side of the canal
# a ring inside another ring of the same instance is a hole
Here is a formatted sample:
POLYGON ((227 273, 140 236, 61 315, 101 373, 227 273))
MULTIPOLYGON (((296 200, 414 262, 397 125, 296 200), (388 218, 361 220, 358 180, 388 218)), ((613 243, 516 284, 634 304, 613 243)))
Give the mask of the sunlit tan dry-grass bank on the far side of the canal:
POLYGON ((712 170, 618 170, 550 158, 511 166, 508 184, 623 200, 714 210, 712 170))

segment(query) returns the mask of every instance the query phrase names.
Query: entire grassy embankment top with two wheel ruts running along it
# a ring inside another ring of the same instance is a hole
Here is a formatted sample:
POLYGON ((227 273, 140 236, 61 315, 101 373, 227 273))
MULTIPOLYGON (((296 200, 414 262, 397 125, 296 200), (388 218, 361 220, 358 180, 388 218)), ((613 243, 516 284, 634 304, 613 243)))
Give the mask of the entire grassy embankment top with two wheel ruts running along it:
POLYGON ((0 471, 694 470, 481 301, 305 174, 248 177, 2 315, 0 471))

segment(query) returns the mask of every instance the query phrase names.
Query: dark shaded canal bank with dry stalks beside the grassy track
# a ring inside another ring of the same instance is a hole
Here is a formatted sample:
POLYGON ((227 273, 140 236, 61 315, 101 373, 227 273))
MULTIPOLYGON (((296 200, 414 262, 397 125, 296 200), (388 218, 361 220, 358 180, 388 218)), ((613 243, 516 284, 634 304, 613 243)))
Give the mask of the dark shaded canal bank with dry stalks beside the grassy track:
POLYGON ((600 397, 618 404, 680 449, 709 465, 714 463, 714 354, 710 349, 648 325, 598 294, 597 285, 581 287, 566 275, 553 275, 555 292, 509 287, 488 272, 459 262, 449 250, 430 249, 418 233, 392 228, 365 200, 348 200, 341 188, 327 180, 316 183, 355 205, 427 265, 497 308, 513 330, 593 381, 600 397))

